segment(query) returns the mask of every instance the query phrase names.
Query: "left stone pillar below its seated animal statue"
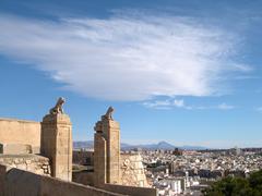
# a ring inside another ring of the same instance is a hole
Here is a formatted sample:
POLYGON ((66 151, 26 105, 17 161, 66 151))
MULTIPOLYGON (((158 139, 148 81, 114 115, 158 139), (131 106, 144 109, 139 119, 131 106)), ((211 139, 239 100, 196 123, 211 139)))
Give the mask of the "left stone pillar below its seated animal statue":
POLYGON ((53 177, 72 180, 72 124, 69 115, 51 113, 44 117, 40 151, 50 159, 53 177))

